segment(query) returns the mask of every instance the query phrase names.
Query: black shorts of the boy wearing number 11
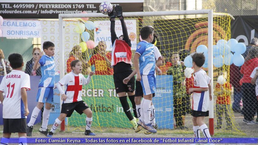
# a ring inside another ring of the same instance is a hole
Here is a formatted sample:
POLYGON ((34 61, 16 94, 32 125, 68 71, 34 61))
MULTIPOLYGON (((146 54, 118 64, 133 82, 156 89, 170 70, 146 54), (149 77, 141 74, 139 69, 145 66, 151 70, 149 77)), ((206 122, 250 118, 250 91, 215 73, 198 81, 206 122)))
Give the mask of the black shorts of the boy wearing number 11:
POLYGON ((27 133, 26 131, 26 118, 3 118, 4 129, 3 133, 16 133, 16 132, 23 132, 27 133))

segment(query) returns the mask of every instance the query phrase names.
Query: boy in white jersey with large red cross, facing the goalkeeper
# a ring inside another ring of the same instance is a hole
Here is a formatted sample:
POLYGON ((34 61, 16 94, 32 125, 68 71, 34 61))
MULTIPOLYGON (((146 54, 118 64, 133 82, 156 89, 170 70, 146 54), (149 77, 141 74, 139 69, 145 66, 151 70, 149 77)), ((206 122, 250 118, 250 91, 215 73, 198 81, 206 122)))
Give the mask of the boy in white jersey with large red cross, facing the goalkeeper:
POLYGON ((82 85, 87 85, 90 82, 92 75, 95 73, 90 72, 88 78, 84 78, 83 74, 81 74, 82 63, 80 60, 73 60, 70 65, 72 71, 69 74, 66 74, 56 85, 57 89, 62 95, 62 109, 61 114, 58 118, 56 118, 54 125, 47 134, 47 137, 52 137, 65 117, 70 117, 74 110, 79 114, 84 113, 87 115, 84 134, 88 136, 95 136, 95 134, 90 130, 92 124, 92 111, 81 98, 82 85), (67 86, 65 92, 61 87, 63 85, 67 86))

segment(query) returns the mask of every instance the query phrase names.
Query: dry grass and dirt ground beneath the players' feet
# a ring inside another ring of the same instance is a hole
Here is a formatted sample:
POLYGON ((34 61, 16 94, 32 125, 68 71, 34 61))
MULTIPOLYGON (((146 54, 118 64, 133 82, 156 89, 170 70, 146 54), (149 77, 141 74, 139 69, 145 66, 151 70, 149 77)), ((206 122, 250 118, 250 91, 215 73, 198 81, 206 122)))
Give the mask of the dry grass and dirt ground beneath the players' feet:
MULTIPOLYGON (((235 116, 235 122, 236 122, 236 129, 233 129, 231 131, 226 130, 215 130, 215 135, 213 137, 219 138, 219 137, 228 137, 228 138, 234 138, 234 137, 258 137, 258 125, 245 125, 242 123, 243 116, 240 115, 240 113, 234 113, 235 116)), ((208 124, 208 118, 206 118, 205 122, 208 124)), ((215 122, 214 122, 215 123, 215 122)), ((99 127, 92 127, 92 132, 96 134, 96 138, 115 138, 115 137, 121 137, 121 138, 157 138, 157 137, 163 137, 163 138, 187 138, 187 137, 193 137, 192 132, 192 122, 191 122, 191 116, 188 114, 186 116, 186 126, 189 127, 188 130, 166 130, 166 129, 159 129, 157 133, 155 134, 149 134, 145 135, 143 132, 140 131, 138 133, 135 133, 132 129, 121 129, 121 128, 99 128, 99 127)), ((35 125, 32 137, 37 138, 44 138, 45 136, 38 132, 40 125, 35 125)), ((48 128, 51 128, 52 126, 49 125, 48 128)), ((65 132, 60 132, 60 129, 58 129, 55 134, 54 138, 87 138, 88 136, 84 135, 83 131, 84 127, 81 127, 80 129, 74 129, 73 127, 66 128, 65 132)), ((0 126, 0 132, 2 132, 3 126, 0 126)), ((0 136, 2 136, 2 133, 0 133, 0 136)), ((202 135, 201 135, 202 136, 202 135)), ((13 133, 12 137, 18 137, 17 133, 13 133)), ((92 136, 90 136, 92 137, 92 136)), ((79 144, 79 143, 77 143, 79 144)), ((88 144, 88 143, 87 143, 88 144)), ((60 144, 59 144, 60 145, 60 144)))

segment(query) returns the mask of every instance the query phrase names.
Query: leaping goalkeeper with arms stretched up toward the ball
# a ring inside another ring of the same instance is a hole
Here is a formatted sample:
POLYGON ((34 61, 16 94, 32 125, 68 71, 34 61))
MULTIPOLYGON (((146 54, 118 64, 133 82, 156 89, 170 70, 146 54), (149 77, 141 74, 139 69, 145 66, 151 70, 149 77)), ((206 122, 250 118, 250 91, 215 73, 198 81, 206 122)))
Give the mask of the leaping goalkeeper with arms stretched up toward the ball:
POLYGON ((129 76, 133 70, 131 65, 133 64, 131 61, 132 58, 132 51, 131 51, 131 40, 129 39, 125 20, 122 15, 123 10, 122 6, 116 5, 115 10, 113 10, 111 13, 108 14, 110 16, 110 32, 111 32, 111 41, 113 45, 112 49, 112 58, 111 58, 111 66, 114 68, 114 85, 116 89, 116 93, 119 96, 119 100, 121 102, 121 105, 123 107, 123 110, 129 119, 130 123, 133 125, 133 129, 137 129, 136 124, 136 105, 134 102, 134 86, 135 86, 135 78, 130 79, 130 81, 127 84, 123 83, 123 79, 129 76), (115 17, 118 17, 121 25, 122 25, 122 31, 123 35, 119 36, 119 38, 116 35, 115 32, 115 17), (126 94, 127 93, 127 94, 126 94), (130 106, 127 102, 127 95, 132 103, 133 113, 134 116, 131 114, 130 106))

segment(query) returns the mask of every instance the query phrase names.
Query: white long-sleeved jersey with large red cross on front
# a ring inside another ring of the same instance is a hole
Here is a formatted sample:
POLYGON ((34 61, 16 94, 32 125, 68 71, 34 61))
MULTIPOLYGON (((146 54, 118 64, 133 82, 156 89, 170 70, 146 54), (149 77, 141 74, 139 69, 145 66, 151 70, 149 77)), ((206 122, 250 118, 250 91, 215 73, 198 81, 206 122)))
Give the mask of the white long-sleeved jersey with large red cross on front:
MULTIPOLYGON (((74 74, 73 72, 70 72, 69 74, 66 74, 58 83, 63 86, 66 85, 66 100, 64 103, 72 103, 81 101, 82 96, 82 85, 87 85, 91 80, 91 77, 88 76, 88 78, 84 78, 82 74, 74 74)), ((59 89, 59 92, 61 94, 64 94, 63 90, 59 89)))

